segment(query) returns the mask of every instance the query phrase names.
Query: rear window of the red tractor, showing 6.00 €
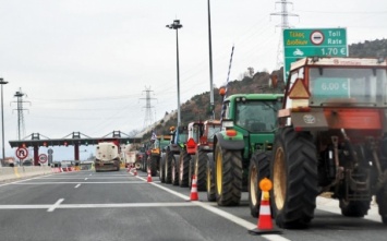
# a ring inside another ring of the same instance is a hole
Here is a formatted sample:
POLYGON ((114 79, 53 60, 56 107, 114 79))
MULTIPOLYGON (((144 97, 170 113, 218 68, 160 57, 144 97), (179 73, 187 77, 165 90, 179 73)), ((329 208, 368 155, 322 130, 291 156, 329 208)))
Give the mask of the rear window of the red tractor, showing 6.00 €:
POLYGON ((313 68, 310 70, 311 105, 329 103, 385 106, 387 76, 384 69, 313 68))

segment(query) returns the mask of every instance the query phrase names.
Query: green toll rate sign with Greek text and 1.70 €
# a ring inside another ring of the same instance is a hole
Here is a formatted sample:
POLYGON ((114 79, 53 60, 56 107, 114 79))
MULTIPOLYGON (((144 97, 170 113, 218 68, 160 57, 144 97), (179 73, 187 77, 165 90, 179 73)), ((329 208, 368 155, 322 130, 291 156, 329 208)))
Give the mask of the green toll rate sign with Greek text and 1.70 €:
POLYGON ((347 57, 347 28, 283 29, 283 76, 290 64, 305 57, 347 57))

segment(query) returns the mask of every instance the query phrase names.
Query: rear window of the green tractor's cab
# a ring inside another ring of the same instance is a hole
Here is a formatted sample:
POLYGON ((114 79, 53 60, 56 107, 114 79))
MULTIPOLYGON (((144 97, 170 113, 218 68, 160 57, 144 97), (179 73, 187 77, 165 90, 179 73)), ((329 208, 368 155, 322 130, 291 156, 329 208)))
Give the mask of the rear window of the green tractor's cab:
POLYGON ((277 123, 278 101, 239 101, 235 123, 250 132, 271 132, 277 123))

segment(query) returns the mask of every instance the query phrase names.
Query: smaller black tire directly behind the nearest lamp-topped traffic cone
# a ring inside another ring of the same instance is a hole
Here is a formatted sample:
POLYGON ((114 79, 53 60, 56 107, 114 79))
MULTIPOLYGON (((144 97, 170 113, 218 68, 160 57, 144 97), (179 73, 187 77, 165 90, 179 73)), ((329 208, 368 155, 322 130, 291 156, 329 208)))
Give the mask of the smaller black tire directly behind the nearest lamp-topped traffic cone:
POLYGON ((262 190, 259 189, 259 181, 264 178, 269 178, 270 166, 269 158, 271 152, 255 153, 250 159, 249 167, 249 205, 250 213, 253 217, 258 217, 262 190))

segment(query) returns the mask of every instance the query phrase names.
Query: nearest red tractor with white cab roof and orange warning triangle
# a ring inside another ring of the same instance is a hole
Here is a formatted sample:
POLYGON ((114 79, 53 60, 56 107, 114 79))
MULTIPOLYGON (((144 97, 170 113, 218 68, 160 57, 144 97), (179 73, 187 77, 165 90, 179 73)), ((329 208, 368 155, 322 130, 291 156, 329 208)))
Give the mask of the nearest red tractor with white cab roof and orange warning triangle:
POLYGON ((385 59, 315 57, 292 64, 271 154, 262 154, 257 166, 273 181, 277 226, 307 227, 324 192, 351 217, 366 215, 375 195, 387 224, 386 113, 385 59))

